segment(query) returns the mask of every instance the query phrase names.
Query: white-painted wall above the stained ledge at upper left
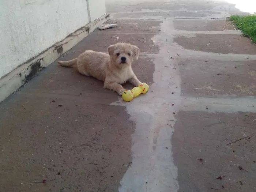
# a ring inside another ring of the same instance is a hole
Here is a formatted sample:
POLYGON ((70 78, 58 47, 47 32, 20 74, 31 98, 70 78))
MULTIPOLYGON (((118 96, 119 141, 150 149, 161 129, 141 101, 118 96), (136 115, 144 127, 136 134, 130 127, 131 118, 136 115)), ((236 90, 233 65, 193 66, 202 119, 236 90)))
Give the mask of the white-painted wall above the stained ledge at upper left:
POLYGON ((87 23, 86 0, 0 0, 0 78, 87 23))

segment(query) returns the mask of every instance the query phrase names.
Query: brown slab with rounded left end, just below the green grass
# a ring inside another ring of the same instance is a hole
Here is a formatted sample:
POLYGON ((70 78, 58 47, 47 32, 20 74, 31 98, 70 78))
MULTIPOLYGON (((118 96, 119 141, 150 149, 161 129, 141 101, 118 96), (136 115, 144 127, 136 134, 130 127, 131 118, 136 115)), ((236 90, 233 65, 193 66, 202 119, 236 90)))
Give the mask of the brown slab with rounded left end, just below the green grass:
POLYGON ((185 49, 213 53, 255 54, 256 46, 240 35, 199 34, 195 37, 176 37, 174 42, 185 49))

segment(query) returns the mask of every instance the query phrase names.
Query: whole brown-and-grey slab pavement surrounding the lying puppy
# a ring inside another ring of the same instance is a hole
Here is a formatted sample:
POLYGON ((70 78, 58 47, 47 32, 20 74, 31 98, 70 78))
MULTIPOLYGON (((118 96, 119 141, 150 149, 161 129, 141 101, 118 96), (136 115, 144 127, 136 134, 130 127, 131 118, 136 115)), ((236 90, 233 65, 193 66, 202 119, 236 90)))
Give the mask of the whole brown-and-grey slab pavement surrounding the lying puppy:
POLYGON ((256 46, 226 18, 244 13, 200 0, 106 3, 118 27, 61 59, 135 44, 150 91, 124 103, 54 62, 0 105, 0 191, 255 191, 256 46))

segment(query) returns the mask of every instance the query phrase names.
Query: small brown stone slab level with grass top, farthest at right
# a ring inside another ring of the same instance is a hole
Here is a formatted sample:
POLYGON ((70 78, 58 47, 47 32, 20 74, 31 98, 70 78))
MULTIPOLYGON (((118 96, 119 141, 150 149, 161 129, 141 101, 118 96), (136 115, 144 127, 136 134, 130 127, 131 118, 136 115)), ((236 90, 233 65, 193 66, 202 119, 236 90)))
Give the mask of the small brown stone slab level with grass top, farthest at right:
POLYGON ((185 31, 234 30, 229 20, 174 20, 175 29, 185 31))

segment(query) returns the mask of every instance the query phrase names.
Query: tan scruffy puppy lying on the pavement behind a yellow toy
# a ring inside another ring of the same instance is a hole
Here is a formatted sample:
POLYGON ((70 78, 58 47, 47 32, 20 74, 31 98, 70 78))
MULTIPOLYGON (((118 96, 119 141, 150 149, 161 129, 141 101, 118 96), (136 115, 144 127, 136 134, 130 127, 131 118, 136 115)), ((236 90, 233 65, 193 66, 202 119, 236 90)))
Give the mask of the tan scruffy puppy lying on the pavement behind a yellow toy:
POLYGON ((132 71, 133 59, 138 60, 139 48, 125 43, 117 43, 108 48, 109 54, 86 50, 76 59, 58 61, 63 67, 77 67, 82 75, 93 76, 104 81, 104 88, 124 92, 122 83, 129 81, 135 87, 141 83, 132 71))

